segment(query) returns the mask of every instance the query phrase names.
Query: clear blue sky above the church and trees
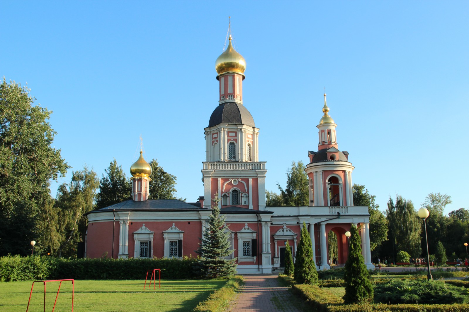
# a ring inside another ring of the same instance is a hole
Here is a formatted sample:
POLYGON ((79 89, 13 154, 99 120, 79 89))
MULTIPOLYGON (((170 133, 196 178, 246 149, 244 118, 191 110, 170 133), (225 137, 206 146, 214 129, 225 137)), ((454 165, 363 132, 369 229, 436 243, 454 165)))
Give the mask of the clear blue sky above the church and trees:
POLYGON ((317 150, 325 87, 353 182, 382 210, 436 192, 453 198, 446 213, 469 208, 468 1, 2 0, 0 75, 53 111, 73 167, 60 182, 113 158, 129 172, 142 135, 178 196, 203 195, 228 15, 268 190, 317 150))

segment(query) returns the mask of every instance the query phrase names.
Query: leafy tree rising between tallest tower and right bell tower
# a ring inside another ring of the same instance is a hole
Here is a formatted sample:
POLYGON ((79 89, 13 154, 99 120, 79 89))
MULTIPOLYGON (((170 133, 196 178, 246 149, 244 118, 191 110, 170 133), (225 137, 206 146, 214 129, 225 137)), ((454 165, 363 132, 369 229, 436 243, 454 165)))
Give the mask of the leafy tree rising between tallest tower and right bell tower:
POLYGON ((304 172, 304 164, 292 162, 287 171, 287 187, 283 189, 277 182, 283 206, 309 206, 308 176, 304 172))

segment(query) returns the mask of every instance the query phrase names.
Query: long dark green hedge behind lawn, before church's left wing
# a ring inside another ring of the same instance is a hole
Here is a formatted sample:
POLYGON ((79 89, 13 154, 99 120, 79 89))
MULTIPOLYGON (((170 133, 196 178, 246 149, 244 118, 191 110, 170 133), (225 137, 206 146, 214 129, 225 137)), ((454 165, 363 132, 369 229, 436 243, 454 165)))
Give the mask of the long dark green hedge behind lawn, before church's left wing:
MULTIPOLYGON (((164 279, 197 278, 195 258, 184 259, 75 259, 50 256, 0 257, 0 282, 46 279, 135 280, 143 279, 147 270, 161 269, 164 279)), ((150 276, 149 276, 150 278, 150 276)))

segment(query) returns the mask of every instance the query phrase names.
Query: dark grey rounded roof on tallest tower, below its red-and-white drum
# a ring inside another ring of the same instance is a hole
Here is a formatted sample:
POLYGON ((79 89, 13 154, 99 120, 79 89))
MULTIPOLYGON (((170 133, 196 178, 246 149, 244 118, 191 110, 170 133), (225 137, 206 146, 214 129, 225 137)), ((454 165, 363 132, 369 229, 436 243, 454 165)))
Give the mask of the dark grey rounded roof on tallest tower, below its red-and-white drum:
POLYGON ((219 124, 255 126, 251 113, 242 104, 235 102, 219 104, 212 112, 208 126, 212 127, 219 124))

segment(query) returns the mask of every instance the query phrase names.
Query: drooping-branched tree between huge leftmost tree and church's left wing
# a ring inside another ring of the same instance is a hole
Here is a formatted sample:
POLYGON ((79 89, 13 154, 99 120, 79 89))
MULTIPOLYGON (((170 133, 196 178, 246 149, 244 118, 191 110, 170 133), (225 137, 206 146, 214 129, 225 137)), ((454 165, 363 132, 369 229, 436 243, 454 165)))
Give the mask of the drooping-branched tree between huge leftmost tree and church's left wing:
POLYGON ((75 171, 70 184, 63 183, 57 192, 61 244, 58 256, 76 256, 77 243, 86 231, 86 213, 93 210, 99 181, 96 172, 84 167, 75 171))

